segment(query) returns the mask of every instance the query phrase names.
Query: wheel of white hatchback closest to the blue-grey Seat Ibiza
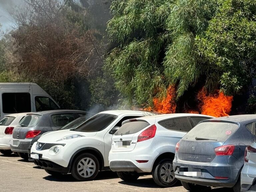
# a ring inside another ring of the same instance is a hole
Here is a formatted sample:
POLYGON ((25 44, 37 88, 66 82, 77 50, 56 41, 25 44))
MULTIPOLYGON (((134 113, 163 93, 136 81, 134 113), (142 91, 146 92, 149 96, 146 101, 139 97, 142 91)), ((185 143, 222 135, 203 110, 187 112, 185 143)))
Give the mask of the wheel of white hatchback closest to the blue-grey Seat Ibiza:
POLYGON ((163 159, 155 168, 153 168, 152 176, 155 183, 160 187, 172 187, 178 181, 175 178, 172 160, 163 159))

